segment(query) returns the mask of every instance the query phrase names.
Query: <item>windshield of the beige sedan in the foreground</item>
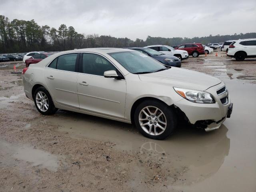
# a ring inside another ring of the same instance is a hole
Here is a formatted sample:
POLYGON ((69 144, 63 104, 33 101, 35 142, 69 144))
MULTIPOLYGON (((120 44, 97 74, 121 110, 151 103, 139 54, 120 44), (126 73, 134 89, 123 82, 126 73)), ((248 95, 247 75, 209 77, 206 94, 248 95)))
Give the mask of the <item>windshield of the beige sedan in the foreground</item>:
POLYGON ((138 51, 115 52, 109 53, 109 55, 133 74, 152 73, 168 69, 160 62, 138 51))

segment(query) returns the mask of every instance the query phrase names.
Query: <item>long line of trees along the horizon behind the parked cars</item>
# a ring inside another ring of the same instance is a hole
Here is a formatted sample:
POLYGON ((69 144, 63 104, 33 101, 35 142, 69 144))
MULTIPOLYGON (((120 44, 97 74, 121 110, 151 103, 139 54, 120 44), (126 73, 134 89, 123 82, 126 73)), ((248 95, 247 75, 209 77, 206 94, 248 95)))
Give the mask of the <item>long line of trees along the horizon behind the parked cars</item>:
POLYGON ((137 38, 116 38, 110 35, 80 34, 74 27, 61 24, 58 29, 48 25, 39 26, 34 19, 30 21, 14 19, 0 15, 0 53, 29 52, 29 51, 64 51, 74 48, 95 47, 143 47, 163 44, 176 46, 183 43, 199 42, 203 44, 218 43, 226 40, 256 38, 256 33, 216 35, 194 38, 162 38, 148 36, 146 41, 137 38))

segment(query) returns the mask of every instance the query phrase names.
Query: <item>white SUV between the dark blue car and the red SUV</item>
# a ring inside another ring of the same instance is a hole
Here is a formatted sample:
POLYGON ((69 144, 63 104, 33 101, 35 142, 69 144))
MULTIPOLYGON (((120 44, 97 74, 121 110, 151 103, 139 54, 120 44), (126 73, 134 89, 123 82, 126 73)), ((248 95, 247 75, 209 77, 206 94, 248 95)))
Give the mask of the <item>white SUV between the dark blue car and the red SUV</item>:
POLYGON ((176 56, 180 60, 188 59, 188 52, 187 51, 174 49, 174 48, 172 48, 168 45, 150 45, 150 46, 146 46, 146 48, 154 49, 154 50, 159 51, 163 54, 176 56))

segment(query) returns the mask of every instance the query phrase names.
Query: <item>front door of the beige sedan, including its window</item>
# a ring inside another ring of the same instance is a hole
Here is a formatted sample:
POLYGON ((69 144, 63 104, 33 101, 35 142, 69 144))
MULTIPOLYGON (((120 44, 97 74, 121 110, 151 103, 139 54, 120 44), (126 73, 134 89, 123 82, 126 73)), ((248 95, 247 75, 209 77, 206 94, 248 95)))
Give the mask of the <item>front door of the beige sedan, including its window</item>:
POLYGON ((126 80, 105 78, 104 72, 116 67, 99 54, 83 53, 77 78, 81 110, 124 119, 126 80))

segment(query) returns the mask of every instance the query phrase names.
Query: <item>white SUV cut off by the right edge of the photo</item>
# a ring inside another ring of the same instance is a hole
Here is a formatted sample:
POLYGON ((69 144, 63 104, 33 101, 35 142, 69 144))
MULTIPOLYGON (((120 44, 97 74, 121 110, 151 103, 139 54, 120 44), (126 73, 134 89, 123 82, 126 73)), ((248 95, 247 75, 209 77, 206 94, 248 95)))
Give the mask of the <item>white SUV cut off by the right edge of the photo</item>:
POLYGON ((228 47, 227 56, 243 61, 245 58, 256 57, 256 38, 235 40, 228 47))

